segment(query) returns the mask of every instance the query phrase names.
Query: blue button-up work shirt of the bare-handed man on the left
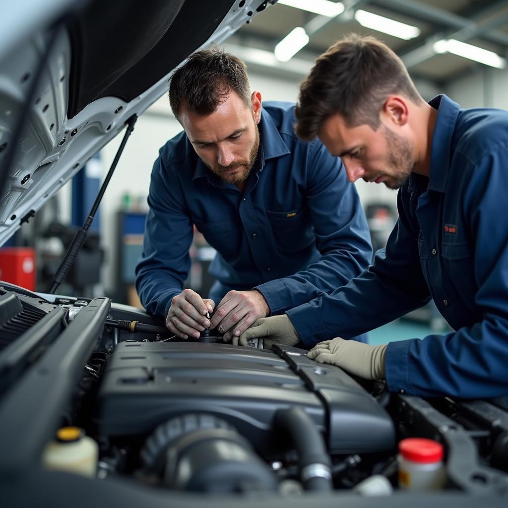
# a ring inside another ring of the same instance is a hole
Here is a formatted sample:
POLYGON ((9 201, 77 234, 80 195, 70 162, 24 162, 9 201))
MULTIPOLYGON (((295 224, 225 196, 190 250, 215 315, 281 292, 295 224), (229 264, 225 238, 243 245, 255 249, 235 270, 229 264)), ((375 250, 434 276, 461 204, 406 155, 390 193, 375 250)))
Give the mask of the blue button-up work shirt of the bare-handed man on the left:
POLYGON ((153 166, 136 288, 165 317, 190 268, 193 224, 217 250, 210 273, 222 294, 257 289, 272 314, 331 292, 371 261, 370 236, 355 186, 319 141, 293 131, 294 105, 265 103, 260 148, 245 192, 213 174, 185 133, 153 166))

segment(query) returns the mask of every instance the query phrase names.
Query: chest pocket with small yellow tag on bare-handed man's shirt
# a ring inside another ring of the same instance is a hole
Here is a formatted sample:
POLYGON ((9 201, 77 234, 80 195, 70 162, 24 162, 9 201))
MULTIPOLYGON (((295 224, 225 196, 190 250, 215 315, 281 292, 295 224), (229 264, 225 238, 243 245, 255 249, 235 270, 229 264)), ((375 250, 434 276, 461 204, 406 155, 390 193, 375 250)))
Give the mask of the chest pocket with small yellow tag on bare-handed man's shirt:
POLYGON ((308 209, 288 212, 266 211, 277 247, 282 252, 294 253, 315 243, 314 228, 308 209))

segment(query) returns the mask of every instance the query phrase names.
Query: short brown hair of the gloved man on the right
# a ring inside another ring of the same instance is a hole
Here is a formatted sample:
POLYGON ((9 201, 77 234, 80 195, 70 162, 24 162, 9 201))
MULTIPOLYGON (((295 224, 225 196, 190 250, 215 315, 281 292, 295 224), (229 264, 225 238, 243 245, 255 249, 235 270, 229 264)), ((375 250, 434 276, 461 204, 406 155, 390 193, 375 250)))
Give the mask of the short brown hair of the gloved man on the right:
POLYGON ((314 139, 335 113, 351 127, 368 124, 377 130, 379 113, 392 93, 423 102, 402 60, 388 46, 374 37, 348 35, 317 58, 301 84, 296 134, 314 139))

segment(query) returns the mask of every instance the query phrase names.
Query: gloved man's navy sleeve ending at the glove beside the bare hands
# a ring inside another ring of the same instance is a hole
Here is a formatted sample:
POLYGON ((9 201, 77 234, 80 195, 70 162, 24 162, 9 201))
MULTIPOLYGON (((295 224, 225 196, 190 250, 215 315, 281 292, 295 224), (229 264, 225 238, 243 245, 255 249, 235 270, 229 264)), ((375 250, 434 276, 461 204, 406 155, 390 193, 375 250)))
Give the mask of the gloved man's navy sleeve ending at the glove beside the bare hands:
POLYGON ((401 193, 397 198, 399 219, 386 251, 378 250, 374 263, 345 286, 287 312, 306 346, 337 336, 355 337, 430 300, 417 233, 407 216, 409 200, 402 200, 401 193))

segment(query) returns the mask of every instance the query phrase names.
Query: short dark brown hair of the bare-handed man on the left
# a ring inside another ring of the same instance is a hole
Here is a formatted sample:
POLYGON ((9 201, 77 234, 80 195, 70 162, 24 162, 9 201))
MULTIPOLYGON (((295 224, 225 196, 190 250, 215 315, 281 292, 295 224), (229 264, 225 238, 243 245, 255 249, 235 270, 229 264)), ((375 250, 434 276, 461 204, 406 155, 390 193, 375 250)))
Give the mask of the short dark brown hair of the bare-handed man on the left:
POLYGON ((212 47, 196 51, 171 77, 169 103, 178 118, 181 108, 208 115, 213 113, 234 90, 250 107, 250 85, 245 63, 212 47))

